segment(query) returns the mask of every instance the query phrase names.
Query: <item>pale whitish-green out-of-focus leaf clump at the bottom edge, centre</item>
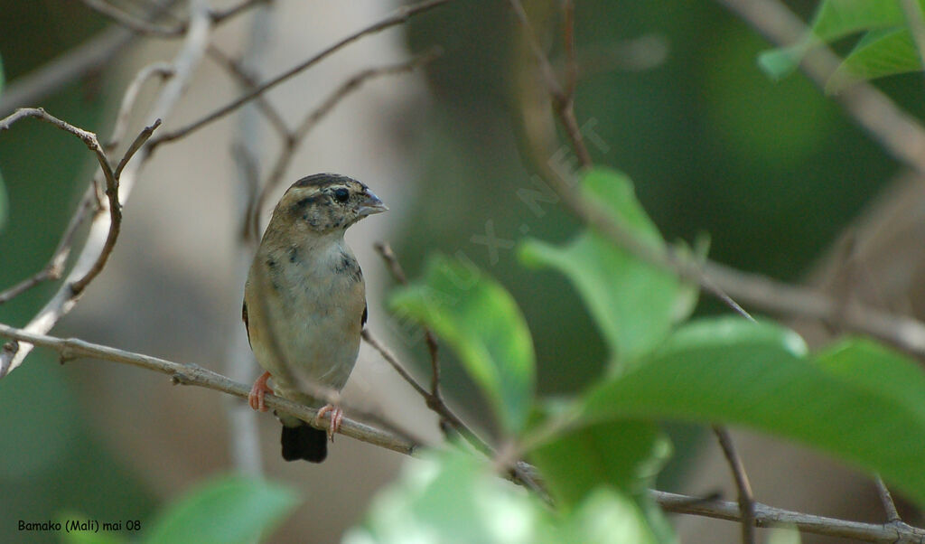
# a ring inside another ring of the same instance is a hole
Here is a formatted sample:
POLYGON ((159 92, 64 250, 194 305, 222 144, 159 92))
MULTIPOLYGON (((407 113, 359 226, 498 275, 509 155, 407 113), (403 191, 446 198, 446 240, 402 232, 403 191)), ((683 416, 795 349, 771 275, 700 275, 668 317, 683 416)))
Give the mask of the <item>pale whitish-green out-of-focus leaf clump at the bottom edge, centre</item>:
POLYGON ((411 462, 379 493, 363 525, 345 544, 439 542, 479 544, 622 544, 656 542, 638 506, 598 489, 571 513, 557 514, 500 479, 490 463, 458 450, 411 462))

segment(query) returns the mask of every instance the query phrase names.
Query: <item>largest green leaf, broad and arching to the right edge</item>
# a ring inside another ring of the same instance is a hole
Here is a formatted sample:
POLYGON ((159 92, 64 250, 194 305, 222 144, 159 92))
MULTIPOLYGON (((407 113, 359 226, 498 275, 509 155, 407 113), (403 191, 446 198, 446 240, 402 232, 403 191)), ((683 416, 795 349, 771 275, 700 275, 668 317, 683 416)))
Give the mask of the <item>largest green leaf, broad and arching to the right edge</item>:
POLYGON ((678 331, 622 377, 592 389, 583 417, 742 425, 878 472, 925 505, 925 376, 867 340, 815 358, 771 324, 709 319, 678 331))

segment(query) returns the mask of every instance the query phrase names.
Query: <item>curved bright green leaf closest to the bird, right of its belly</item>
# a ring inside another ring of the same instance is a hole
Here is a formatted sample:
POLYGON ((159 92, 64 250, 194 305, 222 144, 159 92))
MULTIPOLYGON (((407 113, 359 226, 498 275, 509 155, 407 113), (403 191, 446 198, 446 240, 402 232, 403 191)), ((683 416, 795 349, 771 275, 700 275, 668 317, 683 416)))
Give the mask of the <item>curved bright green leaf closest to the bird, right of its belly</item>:
POLYGON ((524 428, 533 403, 536 355, 524 315, 508 291, 475 266, 436 255, 424 278, 396 291, 390 305, 450 344, 505 431, 524 428))

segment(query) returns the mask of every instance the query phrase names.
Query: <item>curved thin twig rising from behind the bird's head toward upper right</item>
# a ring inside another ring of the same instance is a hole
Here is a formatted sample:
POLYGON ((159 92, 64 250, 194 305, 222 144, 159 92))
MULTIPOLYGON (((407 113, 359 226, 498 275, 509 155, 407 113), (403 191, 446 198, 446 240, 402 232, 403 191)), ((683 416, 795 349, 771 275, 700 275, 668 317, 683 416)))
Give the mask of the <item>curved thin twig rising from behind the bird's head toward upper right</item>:
POLYGON ((359 91, 363 84, 381 76, 397 75, 411 72, 417 68, 425 66, 441 55, 441 50, 437 47, 431 49, 423 55, 415 56, 413 59, 398 64, 388 65, 378 68, 366 68, 361 72, 351 76, 344 81, 337 89, 327 95, 317 107, 308 113, 299 123, 296 130, 287 132, 283 140, 283 149, 279 152, 277 160, 266 177, 263 189, 261 190, 256 201, 253 203, 253 209, 248 214, 249 223, 245 225, 245 233, 253 236, 254 240, 260 238, 260 213, 266 204, 266 199, 277 188, 289 170, 292 158, 295 156, 299 146, 304 142, 305 137, 317 126, 317 124, 327 117, 334 108, 339 105, 340 101, 351 93, 359 91))

